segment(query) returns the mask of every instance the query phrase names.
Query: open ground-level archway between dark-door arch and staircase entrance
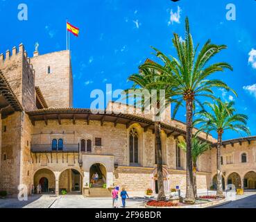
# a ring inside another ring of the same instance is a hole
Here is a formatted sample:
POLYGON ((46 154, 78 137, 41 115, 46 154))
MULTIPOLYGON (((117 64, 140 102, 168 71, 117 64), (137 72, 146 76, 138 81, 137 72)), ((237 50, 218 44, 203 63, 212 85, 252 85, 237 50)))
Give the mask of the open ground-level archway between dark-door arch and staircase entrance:
POLYGON ((82 192, 82 176, 76 169, 66 169, 60 173, 59 190, 67 193, 80 194, 82 192))

